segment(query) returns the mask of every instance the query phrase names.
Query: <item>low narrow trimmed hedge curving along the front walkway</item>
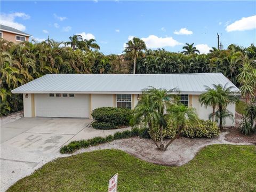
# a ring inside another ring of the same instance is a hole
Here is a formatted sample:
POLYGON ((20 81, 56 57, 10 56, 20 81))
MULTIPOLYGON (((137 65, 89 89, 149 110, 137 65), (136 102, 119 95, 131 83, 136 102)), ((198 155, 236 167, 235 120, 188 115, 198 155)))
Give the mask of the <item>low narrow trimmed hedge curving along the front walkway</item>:
POLYGON ((107 137, 94 137, 92 139, 72 141, 68 145, 60 148, 61 154, 74 153, 74 151, 87 148, 91 146, 96 146, 102 143, 114 141, 116 139, 126 139, 131 137, 141 137, 149 139, 150 135, 148 134, 147 128, 138 129, 137 127, 133 128, 131 131, 126 130, 123 132, 116 132, 114 135, 108 135, 107 137))

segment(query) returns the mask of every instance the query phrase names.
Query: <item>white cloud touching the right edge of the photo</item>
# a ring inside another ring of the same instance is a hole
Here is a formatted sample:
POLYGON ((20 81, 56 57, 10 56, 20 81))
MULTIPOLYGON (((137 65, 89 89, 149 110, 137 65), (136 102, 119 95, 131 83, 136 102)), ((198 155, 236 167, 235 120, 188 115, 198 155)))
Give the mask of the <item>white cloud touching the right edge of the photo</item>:
POLYGON ((235 21, 234 23, 231 23, 226 27, 226 31, 228 32, 244 31, 250 29, 256 29, 256 15, 247 18, 242 18, 240 20, 235 21))

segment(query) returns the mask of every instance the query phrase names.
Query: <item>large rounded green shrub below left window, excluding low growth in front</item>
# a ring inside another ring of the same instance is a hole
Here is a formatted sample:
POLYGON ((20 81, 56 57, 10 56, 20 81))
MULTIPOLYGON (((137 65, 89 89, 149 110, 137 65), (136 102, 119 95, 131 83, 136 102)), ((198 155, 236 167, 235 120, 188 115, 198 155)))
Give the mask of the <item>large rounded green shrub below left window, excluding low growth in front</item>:
POLYGON ((116 126, 129 125, 131 109, 100 107, 92 111, 92 117, 97 122, 107 122, 116 126))

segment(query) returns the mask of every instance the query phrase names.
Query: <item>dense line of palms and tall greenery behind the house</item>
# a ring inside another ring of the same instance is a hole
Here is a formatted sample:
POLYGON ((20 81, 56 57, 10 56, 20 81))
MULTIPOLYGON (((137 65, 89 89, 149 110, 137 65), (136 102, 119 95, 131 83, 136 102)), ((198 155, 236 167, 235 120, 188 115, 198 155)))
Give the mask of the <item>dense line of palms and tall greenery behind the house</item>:
POLYGON ((220 72, 244 95, 255 93, 256 47, 235 44, 227 50, 213 47, 199 54, 194 44, 186 44, 180 53, 164 49, 147 49, 145 42, 134 37, 123 54, 104 55, 94 39, 74 35, 68 42, 46 39, 41 43, 14 44, 1 39, 1 116, 22 109, 22 95, 11 90, 45 74, 173 74, 220 72), (242 74, 242 75, 241 75, 242 74), (238 78, 239 77, 239 78, 238 78))

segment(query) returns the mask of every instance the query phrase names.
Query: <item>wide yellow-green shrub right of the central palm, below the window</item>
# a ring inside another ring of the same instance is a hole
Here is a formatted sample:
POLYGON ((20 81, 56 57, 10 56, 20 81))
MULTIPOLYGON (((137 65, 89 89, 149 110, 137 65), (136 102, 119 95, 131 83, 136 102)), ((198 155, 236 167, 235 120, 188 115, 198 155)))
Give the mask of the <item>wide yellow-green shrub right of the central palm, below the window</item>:
POLYGON ((220 129, 216 123, 199 119, 196 124, 186 122, 182 135, 189 138, 213 138, 220 134, 220 129))

